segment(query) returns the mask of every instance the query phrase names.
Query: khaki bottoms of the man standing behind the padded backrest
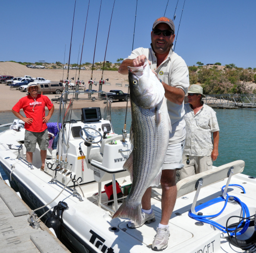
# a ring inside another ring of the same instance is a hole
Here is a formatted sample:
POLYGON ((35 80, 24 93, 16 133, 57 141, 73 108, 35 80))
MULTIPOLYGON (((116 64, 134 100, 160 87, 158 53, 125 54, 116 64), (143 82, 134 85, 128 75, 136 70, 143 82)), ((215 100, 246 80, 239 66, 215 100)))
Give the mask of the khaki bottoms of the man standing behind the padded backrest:
POLYGON ((212 169, 211 156, 194 157, 188 156, 189 164, 186 164, 187 156, 183 155, 182 160, 184 168, 180 170, 180 180, 187 178, 190 175, 195 175, 206 170, 212 169))

